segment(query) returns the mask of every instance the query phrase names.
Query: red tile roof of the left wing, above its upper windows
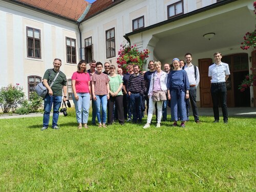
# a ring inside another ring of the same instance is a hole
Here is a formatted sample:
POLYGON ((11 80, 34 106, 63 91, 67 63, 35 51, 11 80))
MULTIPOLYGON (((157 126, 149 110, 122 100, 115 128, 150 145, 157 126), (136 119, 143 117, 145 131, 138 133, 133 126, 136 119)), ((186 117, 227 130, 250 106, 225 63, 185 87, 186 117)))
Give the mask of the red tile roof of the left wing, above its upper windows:
POLYGON ((77 20, 89 5, 84 0, 14 0, 13 2, 27 4, 72 20, 77 20))

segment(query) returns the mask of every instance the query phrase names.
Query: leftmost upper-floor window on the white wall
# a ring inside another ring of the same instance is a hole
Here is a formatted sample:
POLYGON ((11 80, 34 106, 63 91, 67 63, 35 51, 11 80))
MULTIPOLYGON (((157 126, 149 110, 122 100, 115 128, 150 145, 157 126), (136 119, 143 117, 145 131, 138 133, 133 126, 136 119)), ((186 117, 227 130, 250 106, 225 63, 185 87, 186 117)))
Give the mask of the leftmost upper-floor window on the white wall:
POLYGON ((41 34, 39 29, 27 27, 27 56, 41 58, 41 34))

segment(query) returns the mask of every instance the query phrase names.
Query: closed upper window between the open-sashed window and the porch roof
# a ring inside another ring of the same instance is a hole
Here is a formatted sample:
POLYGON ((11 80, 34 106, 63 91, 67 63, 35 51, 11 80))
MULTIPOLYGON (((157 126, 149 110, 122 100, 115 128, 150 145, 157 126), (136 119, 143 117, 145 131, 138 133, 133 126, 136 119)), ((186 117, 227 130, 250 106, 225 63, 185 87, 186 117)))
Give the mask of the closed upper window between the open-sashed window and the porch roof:
POLYGON ((106 58, 116 56, 115 28, 106 30, 106 58))

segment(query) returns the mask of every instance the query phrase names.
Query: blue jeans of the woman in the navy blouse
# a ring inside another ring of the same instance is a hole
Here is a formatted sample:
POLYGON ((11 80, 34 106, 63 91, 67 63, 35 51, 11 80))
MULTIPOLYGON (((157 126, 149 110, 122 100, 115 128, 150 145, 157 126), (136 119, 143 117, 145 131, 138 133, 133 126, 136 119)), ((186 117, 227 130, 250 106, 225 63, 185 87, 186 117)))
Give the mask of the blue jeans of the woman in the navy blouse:
POLYGON ((177 90, 170 90, 170 113, 172 115, 172 121, 178 121, 178 112, 180 112, 180 120, 187 120, 187 109, 185 101, 185 92, 180 91, 180 97, 178 98, 177 90))

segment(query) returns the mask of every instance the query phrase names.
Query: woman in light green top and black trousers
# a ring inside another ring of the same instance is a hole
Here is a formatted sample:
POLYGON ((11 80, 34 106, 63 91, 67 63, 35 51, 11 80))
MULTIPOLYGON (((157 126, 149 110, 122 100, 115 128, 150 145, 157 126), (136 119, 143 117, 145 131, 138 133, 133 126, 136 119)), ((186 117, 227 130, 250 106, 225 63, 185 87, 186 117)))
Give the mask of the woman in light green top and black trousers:
POLYGON ((110 66, 110 99, 108 100, 108 124, 113 123, 113 109, 114 103, 117 109, 118 122, 124 124, 124 115, 123 115, 123 80, 122 77, 116 74, 116 67, 110 66))

